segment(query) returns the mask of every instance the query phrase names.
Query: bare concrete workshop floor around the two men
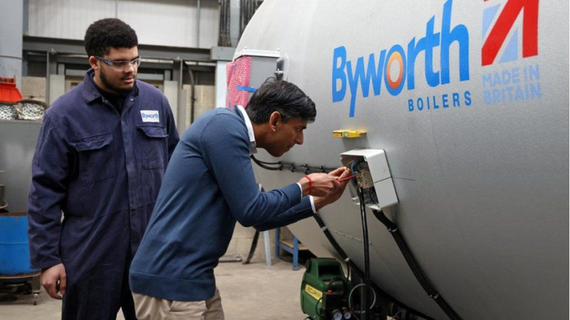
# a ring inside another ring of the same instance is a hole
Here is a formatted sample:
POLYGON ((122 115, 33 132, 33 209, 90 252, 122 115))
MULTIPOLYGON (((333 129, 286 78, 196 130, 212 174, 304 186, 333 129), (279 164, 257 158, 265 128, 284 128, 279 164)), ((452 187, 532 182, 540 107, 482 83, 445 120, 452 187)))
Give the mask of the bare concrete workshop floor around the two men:
MULTIPOLYGON (((304 268, 291 270, 291 263, 274 260, 271 267, 257 262, 220 264, 216 270, 217 286, 228 320, 303 320, 299 303, 304 268)), ((40 302, 33 306, 31 297, 16 302, 0 302, 1 320, 58 320, 61 302, 42 292, 40 302)), ((123 320, 119 313, 117 319, 123 320)))

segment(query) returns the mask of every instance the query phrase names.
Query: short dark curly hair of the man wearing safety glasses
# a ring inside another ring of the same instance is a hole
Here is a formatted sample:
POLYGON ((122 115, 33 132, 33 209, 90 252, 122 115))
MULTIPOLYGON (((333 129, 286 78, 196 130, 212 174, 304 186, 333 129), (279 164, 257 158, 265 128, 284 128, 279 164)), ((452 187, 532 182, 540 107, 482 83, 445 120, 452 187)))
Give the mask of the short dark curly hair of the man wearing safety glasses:
POLYGON ((133 48, 138 45, 137 33, 127 23, 115 18, 93 22, 85 33, 87 55, 103 56, 110 48, 133 48))

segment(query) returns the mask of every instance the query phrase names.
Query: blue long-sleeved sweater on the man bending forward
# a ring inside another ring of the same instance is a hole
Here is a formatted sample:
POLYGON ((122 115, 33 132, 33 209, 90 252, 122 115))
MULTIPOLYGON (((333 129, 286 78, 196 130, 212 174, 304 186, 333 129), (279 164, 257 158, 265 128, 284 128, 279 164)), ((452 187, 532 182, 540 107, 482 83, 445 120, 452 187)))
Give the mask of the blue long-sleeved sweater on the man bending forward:
POLYGON ((313 215, 296 183, 260 192, 237 108, 199 117, 180 139, 130 267, 130 289, 175 301, 214 296, 214 267, 237 221, 269 230, 313 215))

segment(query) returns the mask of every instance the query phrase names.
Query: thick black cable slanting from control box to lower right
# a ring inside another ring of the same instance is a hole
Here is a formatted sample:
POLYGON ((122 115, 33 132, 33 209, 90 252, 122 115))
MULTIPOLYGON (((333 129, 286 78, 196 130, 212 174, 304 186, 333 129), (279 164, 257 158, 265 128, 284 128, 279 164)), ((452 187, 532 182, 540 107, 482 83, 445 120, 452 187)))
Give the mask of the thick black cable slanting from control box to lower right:
POLYGON ((459 314, 457 314, 452 309, 452 307, 447 304, 442 295, 437 292, 437 289, 435 289, 433 284, 431 284, 431 282, 427 279, 427 275, 425 272, 423 272, 422 268, 418 264, 418 261, 415 260, 415 257, 410 251, 410 247, 408 247, 408 244, 405 242, 402 233, 400 233, 398 225, 388 219, 383 211, 372 210, 372 212, 374 213, 375 217, 380 220, 380 222, 383 223, 386 228, 388 228, 388 231, 390 231, 392 238, 394 238, 396 244, 400 248, 400 252, 402 252, 402 255, 404 256, 405 262, 408 262, 410 270, 412 270, 415 278, 418 279, 418 282, 420 282, 420 285, 424 289, 425 293, 427 293, 427 295, 430 296, 430 298, 432 298, 437 303, 437 305, 440 306, 442 311, 444 311, 450 319, 461 320, 459 314))

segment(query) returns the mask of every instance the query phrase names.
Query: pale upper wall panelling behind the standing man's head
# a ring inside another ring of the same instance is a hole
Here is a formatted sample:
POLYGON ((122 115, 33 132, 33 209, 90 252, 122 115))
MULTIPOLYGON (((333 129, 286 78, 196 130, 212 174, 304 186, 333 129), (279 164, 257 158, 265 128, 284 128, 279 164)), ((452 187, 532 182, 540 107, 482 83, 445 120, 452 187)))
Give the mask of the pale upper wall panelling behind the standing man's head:
MULTIPOLYGON (((29 0, 30 36, 83 39, 90 23, 117 16, 137 31, 139 42, 197 47, 197 0, 29 0), (118 10, 115 10, 118 9, 118 10)), ((200 4, 199 48, 217 45, 219 8, 200 4)))

